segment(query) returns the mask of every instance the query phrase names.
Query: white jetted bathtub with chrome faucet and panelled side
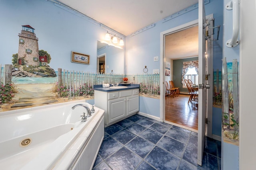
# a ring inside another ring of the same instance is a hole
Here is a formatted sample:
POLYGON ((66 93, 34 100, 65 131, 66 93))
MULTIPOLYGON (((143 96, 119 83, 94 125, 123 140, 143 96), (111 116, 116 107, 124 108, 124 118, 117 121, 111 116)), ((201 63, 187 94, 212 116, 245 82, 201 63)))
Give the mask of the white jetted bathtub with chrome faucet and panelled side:
POLYGON ((91 169, 104 137, 104 110, 86 122, 85 101, 0 112, 0 169, 91 169), (22 143, 22 141, 24 141, 22 143))

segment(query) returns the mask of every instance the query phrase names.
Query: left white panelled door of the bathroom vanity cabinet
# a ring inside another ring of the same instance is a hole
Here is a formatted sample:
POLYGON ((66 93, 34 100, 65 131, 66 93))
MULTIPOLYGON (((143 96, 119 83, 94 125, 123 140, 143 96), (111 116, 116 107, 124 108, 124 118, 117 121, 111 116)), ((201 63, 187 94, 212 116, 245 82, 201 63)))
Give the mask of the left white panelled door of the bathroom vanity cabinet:
POLYGON ((108 101, 108 123, 126 116, 126 98, 108 101))

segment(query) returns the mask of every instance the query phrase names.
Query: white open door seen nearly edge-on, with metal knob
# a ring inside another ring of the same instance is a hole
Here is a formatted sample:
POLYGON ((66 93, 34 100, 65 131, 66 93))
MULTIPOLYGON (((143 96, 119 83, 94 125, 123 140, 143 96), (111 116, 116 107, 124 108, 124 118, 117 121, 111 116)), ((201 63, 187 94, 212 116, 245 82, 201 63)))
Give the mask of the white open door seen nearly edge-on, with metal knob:
POLYGON ((198 156, 202 166, 206 132, 206 17, 204 0, 198 1, 198 156))

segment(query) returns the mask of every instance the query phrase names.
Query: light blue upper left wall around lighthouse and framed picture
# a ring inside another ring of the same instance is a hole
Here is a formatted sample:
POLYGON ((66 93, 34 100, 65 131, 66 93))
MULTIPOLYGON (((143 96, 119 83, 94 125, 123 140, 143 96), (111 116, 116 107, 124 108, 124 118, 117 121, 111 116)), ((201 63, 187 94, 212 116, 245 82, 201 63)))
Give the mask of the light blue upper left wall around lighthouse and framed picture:
MULTIPOLYGON (((0 1, 1 64, 11 64, 18 53, 18 33, 22 25, 32 26, 39 50, 51 55, 50 67, 96 72, 97 40, 104 39, 106 29, 82 19, 45 0, 0 1), (71 51, 90 55, 90 65, 71 63, 71 51)), ((125 41, 125 39, 124 39, 125 41)))

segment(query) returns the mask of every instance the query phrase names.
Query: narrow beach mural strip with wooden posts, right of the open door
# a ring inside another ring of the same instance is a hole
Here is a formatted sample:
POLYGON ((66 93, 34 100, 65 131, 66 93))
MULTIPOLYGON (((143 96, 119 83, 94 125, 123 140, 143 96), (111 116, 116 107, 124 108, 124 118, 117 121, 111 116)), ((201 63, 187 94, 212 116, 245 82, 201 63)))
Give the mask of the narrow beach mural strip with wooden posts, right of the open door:
POLYGON ((223 60, 222 133, 226 143, 239 146, 238 61, 223 60))

